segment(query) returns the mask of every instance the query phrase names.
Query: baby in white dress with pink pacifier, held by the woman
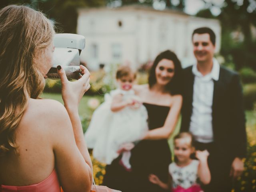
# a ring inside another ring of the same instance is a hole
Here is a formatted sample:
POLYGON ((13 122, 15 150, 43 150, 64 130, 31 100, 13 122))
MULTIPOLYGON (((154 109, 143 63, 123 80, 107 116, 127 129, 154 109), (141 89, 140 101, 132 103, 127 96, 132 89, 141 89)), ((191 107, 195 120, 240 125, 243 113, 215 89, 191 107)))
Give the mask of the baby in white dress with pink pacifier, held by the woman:
MULTIPOLYGON (((130 150, 134 146, 132 142, 141 140, 148 130, 146 108, 132 90, 135 77, 128 66, 118 68, 118 89, 105 95, 105 102, 94 111, 85 133, 94 158, 106 164, 111 164, 123 148, 130 150)), ((131 168, 129 159, 130 151, 127 151, 120 160, 128 170, 131 168)))

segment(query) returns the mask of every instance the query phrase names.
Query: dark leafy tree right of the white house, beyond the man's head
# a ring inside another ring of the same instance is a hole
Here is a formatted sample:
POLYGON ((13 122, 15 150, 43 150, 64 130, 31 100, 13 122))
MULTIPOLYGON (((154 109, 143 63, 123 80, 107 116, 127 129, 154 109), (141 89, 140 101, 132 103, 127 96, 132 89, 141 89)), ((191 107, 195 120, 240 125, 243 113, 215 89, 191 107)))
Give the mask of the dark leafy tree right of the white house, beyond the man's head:
MULTIPOLYGON (((205 2, 205 1, 204 1, 205 2)), ((206 3, 206 2, 205 2, 206 3)), ((207 2, 208 8, 197 16, 214 18, 210 8, 216 6, 207 2)), ((218 18, 222 25, 222 45, 220 53, 228 62, 234 62, 236 70, 248 66, 256 70, 256 39, 252 36, 252 26, 256 26, 256 2, 252 0, 225 0, 218 18)))

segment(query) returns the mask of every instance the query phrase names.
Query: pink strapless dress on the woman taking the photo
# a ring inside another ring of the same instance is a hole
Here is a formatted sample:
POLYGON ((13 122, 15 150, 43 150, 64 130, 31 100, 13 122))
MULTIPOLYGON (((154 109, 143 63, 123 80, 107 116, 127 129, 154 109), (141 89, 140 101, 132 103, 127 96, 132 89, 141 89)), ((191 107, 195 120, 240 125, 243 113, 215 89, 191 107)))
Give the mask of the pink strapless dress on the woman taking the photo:
POLYGON ((38 184, 28 186, 1 185, 0 192, 60 192, 60 182, 54 169, 50 176, 38 184))

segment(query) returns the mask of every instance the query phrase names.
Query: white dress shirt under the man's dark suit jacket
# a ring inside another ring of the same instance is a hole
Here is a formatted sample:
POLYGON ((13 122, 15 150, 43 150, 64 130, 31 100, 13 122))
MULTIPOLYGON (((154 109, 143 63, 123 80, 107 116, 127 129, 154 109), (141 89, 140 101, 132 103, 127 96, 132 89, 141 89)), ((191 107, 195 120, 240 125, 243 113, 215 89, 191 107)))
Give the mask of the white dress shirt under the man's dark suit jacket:
POLYGON ((189 131, 194 135, 196 141, 202 143, 213 142, 212 132, 212 99, 214 82, 219 79, 220 64, 213 58, 212 71, 203 76, 197 69, 196 64, 192 67, 195 75, 192 116, 189 131))

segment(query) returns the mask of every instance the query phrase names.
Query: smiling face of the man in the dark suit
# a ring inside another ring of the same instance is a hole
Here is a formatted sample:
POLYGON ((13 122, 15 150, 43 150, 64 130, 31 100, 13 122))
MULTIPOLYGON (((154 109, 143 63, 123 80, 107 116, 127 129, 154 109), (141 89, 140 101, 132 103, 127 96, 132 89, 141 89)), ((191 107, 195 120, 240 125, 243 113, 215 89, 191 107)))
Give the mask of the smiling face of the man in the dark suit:
POLYGON ((214 56, 215 46, 210 40, 208 33, 194 34, 192 38, 194 55, 198 62, 211 61, 214 56))

